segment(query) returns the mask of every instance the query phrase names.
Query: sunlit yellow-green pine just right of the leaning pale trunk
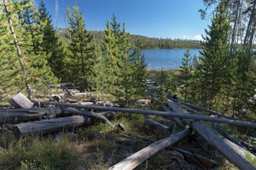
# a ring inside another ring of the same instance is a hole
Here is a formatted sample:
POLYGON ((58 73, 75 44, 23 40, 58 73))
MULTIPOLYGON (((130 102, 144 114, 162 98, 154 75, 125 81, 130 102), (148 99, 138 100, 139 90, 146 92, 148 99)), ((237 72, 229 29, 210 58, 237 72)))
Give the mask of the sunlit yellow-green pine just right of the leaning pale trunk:
POLYGON ((46 85, 57 82, 51 68, 48 65, 49 54, 43 48, 43 29, 46 23, 38 18, 38 9, 32 5, 31 8, 24 8, 20 15, 21 26, 26 30, 26 43, 23 45, 24 55, 26 55, 28 75, 30 82, 35 88, 38 85, 46 85))

